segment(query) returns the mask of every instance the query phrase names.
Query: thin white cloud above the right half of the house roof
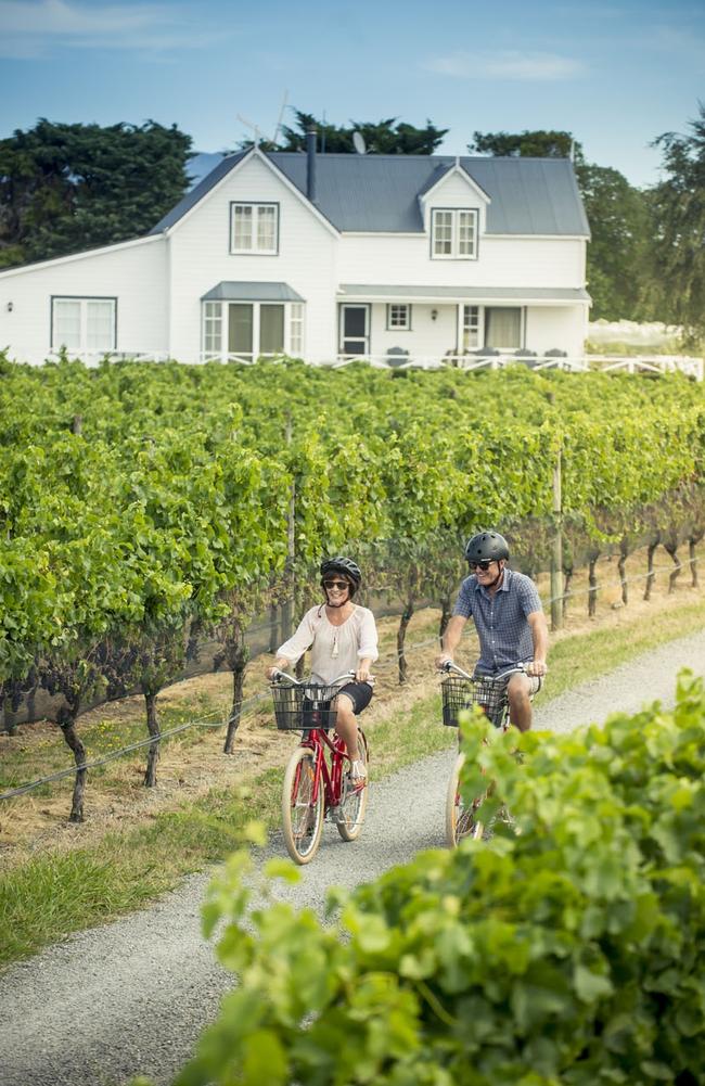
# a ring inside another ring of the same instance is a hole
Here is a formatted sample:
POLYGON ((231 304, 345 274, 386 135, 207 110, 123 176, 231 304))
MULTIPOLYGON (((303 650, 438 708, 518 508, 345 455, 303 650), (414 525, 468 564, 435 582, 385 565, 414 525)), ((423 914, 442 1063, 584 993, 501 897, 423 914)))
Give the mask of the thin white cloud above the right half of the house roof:
POLYGON ((586 65, 555 53, 502 50, 488 53, 452 53, 435 56, 424 65, 430 72, 458 79, 516 79, 551 83, 582 75, 586 65))

